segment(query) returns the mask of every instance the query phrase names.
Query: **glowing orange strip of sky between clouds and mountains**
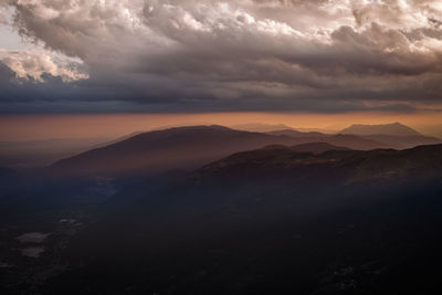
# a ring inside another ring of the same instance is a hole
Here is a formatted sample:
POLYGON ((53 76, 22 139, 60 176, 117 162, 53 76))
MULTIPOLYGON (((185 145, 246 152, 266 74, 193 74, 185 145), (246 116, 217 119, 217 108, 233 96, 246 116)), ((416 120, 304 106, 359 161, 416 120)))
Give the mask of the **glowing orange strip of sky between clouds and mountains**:
POLYGON ((107 115, 2 115, 0 140, 48 138, 115 138, 134 131, 182 125, 248 123, 285 124, 293 128, 339 130, 351 124, 400 122, 417 130, 442 137, 442 114, 303 114, 303 113, 202 113, 202 114, 107 114, 107 115))

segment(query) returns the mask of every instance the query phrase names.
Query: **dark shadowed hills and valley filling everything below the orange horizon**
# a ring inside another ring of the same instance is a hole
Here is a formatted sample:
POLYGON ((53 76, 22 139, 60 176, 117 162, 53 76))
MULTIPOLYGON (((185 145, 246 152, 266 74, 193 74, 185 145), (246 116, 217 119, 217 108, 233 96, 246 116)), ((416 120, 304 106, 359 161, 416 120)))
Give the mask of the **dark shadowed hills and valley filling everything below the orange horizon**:
POLYGON ((442 145, 368 143, 196 126, 1 168, 0 291, 434 294, 442 145))

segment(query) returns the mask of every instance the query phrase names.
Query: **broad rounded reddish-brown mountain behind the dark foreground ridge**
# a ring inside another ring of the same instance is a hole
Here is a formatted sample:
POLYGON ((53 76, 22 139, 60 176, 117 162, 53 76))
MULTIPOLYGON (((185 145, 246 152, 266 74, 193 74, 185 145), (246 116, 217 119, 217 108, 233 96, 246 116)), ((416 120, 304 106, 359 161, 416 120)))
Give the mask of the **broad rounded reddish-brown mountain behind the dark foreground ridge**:
POLYGON ((196 168, 232 152, 267 145, 324 141, 351 149, 385 145, 354 135, 291 137, 234 130, 222 126, 190 126, 143 133, 123 141, 60 160, 52 168, 76 175, 157 173, 196 168))

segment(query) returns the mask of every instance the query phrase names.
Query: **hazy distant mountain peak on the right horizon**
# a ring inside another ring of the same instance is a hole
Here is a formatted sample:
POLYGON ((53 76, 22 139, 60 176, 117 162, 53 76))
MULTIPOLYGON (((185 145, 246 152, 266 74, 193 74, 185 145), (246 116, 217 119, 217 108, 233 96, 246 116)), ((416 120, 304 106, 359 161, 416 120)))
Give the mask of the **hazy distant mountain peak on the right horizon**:
POLYGON ((364 125, 354 124, 348 128, 345 128, 340 134, 354 134, 354 135, 392 135, 392 136, 422 136, 417 130, 394 122, 391 124, 383 125, 364 125))

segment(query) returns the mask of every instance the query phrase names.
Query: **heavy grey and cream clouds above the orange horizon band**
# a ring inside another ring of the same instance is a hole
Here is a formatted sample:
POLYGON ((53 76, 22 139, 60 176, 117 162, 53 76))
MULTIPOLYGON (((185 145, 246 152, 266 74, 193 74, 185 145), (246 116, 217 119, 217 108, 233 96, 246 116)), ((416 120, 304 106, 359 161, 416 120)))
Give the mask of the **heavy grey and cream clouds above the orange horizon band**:
POLYGON ((0 0, 3 114, 441 109, 441 0, 0 0))

